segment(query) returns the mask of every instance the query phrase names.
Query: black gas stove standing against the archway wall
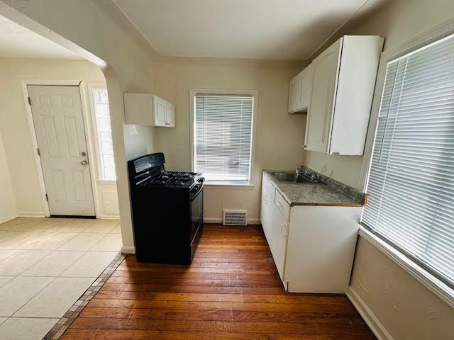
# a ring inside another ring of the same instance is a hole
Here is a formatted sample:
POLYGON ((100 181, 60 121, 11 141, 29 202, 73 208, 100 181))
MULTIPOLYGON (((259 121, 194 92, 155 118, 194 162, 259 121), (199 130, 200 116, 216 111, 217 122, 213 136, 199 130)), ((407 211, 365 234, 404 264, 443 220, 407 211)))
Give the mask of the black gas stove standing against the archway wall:
POLYGON ((128 161, 135 256, 189 264, 203 228, 204 178, 164 164, 162 153, 128 161))

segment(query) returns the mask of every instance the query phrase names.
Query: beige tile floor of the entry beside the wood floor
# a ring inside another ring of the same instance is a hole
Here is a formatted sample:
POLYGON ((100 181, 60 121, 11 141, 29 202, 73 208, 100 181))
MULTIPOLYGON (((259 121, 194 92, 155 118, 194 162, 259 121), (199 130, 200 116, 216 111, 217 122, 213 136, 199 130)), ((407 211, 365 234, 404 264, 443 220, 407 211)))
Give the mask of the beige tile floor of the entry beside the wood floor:
POLYGON ((118 220, 0 224, 0 340, 40 340, 121 251, 118 220))

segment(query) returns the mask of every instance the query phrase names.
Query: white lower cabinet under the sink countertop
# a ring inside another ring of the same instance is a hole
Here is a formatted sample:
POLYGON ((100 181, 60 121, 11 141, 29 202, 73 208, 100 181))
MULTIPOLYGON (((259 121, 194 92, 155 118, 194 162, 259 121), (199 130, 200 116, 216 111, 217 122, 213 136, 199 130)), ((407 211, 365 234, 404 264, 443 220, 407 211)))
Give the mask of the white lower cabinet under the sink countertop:
POLYGON ((273 200, 270 187, 263 176, 260 217, 284 287, 291 293, 345 293, 361 207, 289 206, 276 189, 273 200))

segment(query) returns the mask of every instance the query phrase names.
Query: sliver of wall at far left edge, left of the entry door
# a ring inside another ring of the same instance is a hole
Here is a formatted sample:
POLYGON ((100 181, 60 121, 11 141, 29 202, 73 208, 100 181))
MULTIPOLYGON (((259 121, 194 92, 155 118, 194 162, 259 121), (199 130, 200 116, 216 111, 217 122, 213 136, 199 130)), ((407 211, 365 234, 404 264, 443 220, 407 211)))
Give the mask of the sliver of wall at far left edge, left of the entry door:
POLYGON ((0 223, 12 220, 14 217, 17 217, 16 199, 11 186, 11 176, 0 134, 0 223))

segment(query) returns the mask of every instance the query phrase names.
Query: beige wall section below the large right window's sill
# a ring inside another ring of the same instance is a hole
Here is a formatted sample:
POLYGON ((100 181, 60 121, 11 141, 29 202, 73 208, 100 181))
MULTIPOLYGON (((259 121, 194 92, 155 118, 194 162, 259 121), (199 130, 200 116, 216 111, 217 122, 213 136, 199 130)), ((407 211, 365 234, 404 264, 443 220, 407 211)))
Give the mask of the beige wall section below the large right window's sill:
POLYGON ((453 307, 362 237, 358 238, 350 290, 394 340, 454 339, 453 307))

